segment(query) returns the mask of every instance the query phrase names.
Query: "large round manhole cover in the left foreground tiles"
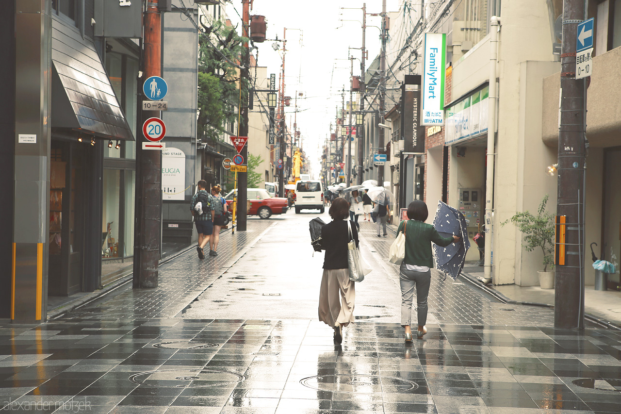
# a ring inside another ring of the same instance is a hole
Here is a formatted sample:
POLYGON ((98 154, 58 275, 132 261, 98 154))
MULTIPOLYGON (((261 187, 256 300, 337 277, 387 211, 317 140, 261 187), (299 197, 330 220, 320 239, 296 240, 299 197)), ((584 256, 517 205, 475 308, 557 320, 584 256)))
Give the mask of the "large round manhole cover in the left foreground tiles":
POLYGON ((237 384, 246 379, 242 374, 218 369, 164 369, 141 372, 130 381, 149 387, 209 388, 237 384))

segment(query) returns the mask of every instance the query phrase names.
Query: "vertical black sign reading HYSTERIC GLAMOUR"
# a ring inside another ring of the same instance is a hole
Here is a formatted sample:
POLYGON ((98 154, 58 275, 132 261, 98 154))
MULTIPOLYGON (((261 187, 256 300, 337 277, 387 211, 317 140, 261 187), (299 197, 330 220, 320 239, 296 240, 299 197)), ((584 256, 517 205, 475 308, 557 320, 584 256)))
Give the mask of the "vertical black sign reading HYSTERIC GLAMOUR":
POLYGON ((425 152, 425 127, 420 125, 420 75, 406 75, 401 87, 401 132, 404 152, 425 152))

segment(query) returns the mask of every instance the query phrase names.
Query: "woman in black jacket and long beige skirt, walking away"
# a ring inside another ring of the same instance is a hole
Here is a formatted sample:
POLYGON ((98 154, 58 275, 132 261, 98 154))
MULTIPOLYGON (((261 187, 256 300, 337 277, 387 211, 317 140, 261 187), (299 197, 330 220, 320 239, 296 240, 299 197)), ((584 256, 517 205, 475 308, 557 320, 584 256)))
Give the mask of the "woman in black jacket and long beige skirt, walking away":
POLYGON ((347 244, 349 229, 358 246, 358 231, 349 216, 349 204, 344 198, 332 202, 329 210, 332 221, 321 228, 321 249, 325 250, 324 276, 319 290, 319 320, 334 328, 334 341, 343 341, 343 328, 354 321, 356 292, 349 279, 347 244), (348 224, 350 224, 348 226, 348 224), (340 300, 339 300, 340 294, 340 300))

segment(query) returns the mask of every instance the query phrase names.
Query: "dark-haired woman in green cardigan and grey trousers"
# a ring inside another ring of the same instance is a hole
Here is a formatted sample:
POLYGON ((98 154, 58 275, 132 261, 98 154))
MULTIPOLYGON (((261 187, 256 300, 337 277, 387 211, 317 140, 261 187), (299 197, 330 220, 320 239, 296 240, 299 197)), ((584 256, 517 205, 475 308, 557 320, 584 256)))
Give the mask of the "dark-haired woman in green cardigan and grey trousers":
POLYGON ((431 270, 433 257, 431 242, 446 247, 460 241, 460 237, 442 237, 431 225, 425 223, 428 216, 427 205, 424 201, 414 200, 407 206, 407 218, 397 228, 406 235, 406 257, 399 268, 399 284, 401 285, 401 326, 406 329, 406 342, 412 342, 412 296, 416 287, 416 305, 419 327, 417 338, 427 333, 427 297, 431 284, 431 270))

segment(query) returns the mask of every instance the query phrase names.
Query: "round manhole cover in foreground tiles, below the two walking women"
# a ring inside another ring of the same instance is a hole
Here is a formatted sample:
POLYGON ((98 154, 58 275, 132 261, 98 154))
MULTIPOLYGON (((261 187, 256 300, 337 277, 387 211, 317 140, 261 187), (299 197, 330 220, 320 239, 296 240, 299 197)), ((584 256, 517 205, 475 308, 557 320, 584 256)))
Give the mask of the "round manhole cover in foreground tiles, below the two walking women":
POLYGON ((319 375, 304 378, 300 383, 314 390, 363 394, 407 392, 419 387, 397 377, 352 374, 319 375))

